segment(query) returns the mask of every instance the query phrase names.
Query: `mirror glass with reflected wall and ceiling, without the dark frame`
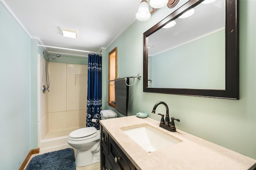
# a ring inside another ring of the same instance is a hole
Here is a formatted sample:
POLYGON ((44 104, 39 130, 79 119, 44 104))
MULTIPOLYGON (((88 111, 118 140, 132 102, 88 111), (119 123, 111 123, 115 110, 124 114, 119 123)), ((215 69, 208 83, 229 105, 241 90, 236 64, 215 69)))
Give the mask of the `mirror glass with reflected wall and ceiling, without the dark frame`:
POLYGON ((170 21, 148 37, 148 47, 149 88, 225 90, 225 0, 170 21))

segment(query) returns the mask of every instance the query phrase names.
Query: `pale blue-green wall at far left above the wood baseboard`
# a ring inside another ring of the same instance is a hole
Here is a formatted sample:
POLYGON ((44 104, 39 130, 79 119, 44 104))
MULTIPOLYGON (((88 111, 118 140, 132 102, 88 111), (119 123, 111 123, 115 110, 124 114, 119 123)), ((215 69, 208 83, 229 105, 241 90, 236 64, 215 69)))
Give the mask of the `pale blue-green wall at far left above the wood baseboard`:
POLYGON ((0 3, 0 169, 17 170, 31 150, 31 39, 0 3))

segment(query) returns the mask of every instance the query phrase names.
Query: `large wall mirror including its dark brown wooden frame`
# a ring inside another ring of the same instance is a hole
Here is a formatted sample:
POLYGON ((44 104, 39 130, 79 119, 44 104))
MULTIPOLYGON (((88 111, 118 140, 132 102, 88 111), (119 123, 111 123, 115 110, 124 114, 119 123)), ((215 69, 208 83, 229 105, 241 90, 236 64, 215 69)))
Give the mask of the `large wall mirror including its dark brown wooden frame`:
POLYGON ((144 92, 239 99, 237 2, 205 2, 188 1, 143 34, 144 92))

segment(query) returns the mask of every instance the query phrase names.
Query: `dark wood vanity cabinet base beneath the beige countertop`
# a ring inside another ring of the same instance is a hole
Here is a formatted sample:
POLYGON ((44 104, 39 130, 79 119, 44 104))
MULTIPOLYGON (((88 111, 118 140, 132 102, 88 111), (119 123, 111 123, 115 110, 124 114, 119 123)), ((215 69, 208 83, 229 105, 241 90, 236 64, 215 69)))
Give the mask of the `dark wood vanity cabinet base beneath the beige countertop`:
POLYGON ((102 170, 137 170, 101 125, 100 138, 100 167, 102 170))

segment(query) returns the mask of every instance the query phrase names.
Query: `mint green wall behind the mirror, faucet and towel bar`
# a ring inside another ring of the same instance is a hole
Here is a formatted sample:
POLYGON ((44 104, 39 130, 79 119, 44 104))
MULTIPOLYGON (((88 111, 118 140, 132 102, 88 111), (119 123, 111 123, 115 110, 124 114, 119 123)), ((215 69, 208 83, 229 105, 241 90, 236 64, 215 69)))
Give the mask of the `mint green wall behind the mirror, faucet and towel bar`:
MULTIPOLYGON (((148 21, 135 21, 107 49, 108 54, 118 47, 118 77, 143 74, 142 34, 184 4, 180 0, 174 9, 161 8, 148 21)), ((142 80, 135 80, 130 86, 128 115, 145 112, 159 120, 159 115, 151 113, 156 102, 164 101, 169 106, 170 115, 180 119, 178 129, 256 158, 256 1, 240 0, 240 100, 179 96, 143 92, 142 80)), ((186 25, 184 25, 186 26, 186 25)), ((108 60, 102 80, 108 77, 108 60)), ((108 83, 103 82, 103 91, 108 93, 108 83)), ((106 103, 108 98, 102 98, 106 103)), ((103 109, 112 109, 105 105, 103 109)), ((159 106, 156 113, 165 113, 159 106)), ((118 113, 118 116, 122 116, 118 113)))

